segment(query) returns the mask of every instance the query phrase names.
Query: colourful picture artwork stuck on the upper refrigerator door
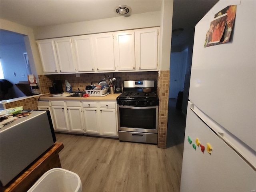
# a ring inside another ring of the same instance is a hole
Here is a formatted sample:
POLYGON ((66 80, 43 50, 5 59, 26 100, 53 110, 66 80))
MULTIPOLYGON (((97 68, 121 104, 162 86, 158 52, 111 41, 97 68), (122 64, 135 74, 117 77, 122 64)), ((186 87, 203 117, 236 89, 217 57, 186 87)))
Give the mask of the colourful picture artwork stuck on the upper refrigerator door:
POLYGON ((227 6, 217 14, 210 22, 210 28, 206 32, 204 47, 218 45, 230 41, 236 17, 236 5, 227 6))

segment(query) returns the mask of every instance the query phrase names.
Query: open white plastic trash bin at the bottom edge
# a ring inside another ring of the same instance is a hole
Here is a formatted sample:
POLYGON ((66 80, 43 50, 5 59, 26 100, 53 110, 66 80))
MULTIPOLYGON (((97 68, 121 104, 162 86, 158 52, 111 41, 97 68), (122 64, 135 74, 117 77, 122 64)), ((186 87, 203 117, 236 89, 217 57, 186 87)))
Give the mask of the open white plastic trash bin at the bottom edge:
POLYGON ((78 174, 53 168, 44 173, 28 192, 82 192, 82 183, 78 174))

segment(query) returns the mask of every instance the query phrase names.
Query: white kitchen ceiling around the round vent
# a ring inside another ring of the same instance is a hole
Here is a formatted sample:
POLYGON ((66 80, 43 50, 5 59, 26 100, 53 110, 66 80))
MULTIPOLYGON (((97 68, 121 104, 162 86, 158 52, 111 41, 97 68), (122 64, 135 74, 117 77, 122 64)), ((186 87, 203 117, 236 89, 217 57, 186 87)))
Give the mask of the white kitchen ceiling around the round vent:
POLYGON ((1 18, 28 27, 50 26, 118 17, 115 8, 131 14, 160 11, 161 0, 1 0, 1 18))

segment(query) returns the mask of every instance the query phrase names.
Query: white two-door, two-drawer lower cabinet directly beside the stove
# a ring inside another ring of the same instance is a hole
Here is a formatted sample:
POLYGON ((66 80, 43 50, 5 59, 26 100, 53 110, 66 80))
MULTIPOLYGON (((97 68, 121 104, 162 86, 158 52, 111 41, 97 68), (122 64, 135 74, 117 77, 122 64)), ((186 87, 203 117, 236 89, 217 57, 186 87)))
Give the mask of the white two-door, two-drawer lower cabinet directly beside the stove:
POLYGON ((82 102, 86 133, 118 136, 116 101, 82 102))

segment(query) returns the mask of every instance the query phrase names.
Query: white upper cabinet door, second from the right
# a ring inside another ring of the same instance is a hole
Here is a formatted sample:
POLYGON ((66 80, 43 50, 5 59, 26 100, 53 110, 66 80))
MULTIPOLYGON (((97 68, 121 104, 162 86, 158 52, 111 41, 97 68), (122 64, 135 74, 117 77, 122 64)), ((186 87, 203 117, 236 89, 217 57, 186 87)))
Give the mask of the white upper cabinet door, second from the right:
POLYGON ((134 31, 117 33, 115 45, 118 71, 135 70, 134 31))

